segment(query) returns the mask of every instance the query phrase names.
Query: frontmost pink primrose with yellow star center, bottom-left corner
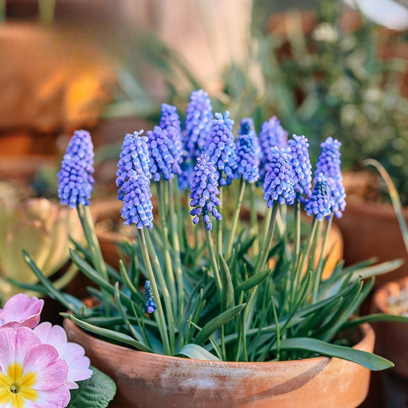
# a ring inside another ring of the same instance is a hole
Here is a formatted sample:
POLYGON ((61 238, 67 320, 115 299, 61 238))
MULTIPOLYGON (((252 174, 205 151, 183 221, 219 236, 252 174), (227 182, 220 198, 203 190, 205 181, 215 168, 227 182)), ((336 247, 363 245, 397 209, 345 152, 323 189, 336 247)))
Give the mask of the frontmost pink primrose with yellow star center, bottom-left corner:
POLYGON ((0 406, 65 408, 68 363, 28 327, 0 330, 0 406))

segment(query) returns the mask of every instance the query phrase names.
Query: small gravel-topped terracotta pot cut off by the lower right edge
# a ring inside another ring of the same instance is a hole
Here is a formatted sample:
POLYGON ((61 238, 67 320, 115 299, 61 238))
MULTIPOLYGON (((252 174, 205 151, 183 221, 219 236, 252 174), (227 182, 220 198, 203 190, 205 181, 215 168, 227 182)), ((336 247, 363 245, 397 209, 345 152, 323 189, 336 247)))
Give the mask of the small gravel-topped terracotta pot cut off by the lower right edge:
MULTIPOLYGON (((393 313, 389 298, 407 290, 408 277, 398 282, 389 282, 373 297, 373 313, 393 313)), ((392 321, 376 322, 374 325, 377 342, 375 351, 387 359, 392 359, 395 367, 389 372, 379 373, 384 389, 386 406, 408 406, 408 324, 392 321)))

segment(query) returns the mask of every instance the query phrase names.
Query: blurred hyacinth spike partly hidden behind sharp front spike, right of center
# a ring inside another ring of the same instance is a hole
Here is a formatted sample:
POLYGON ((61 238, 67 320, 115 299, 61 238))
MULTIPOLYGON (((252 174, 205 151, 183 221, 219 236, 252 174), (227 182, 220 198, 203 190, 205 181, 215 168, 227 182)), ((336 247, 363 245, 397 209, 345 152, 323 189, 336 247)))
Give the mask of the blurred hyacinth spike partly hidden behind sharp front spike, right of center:
POLYGON ((278 149, 288 147, 288 132, 281 126, 281 122, 276 116, 261 125, 259 132, 259 145, 261 147, 261 181, 264 180, 271 162, 271 147, 276 146, 278 149))

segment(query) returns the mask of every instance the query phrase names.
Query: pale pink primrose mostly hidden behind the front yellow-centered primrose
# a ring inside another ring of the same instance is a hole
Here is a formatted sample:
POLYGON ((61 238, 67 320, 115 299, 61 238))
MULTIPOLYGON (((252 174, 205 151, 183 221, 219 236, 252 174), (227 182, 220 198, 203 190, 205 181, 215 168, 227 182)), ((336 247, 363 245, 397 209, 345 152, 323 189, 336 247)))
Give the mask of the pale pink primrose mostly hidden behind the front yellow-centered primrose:
POLYGON ((91 377, 90 361, 85 356, 84 348, 77 343, 68 342, 67 334, 61 326, 53 326, 49 322, 44 322, 39 324, 34 331, 42 343, 54 346, 58 350, 60 358, 67 361, 69 374, 65 384, 69 389, 78 388, 75 381, 82 381, 91 377))

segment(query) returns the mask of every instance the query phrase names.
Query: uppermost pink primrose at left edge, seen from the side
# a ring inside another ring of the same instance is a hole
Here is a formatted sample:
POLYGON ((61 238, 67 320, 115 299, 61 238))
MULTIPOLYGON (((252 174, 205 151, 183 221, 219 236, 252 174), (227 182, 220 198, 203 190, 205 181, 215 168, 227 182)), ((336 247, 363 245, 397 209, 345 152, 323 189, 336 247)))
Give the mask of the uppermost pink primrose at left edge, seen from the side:
POLYGON ((11 297, 3 309, 0 309, 0 329, 11 327, 34 328, 40 322, 44 300, 28 297, 23 293, 11 297))

